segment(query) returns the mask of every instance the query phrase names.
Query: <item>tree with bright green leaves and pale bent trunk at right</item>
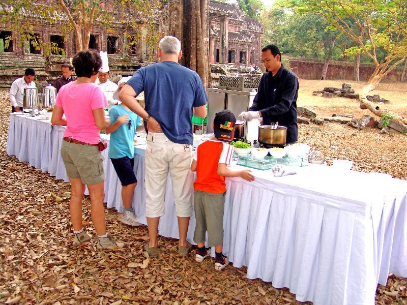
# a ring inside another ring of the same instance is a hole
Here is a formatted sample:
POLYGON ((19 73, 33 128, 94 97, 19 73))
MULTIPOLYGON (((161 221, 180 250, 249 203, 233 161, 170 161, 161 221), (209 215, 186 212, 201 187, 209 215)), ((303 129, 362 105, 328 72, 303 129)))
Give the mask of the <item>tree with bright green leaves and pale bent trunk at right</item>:
MULTIPOLYGON (((287 1, 293 10, 319 14, 338 31, 350 37, 359 47, 348 49, 348 54, 363 52, 369 56, 375 65, 375 70, 360 95, 360 108, 369 109, 380 117, 389 115, 389 111, 369 102, 366 95, 407 57, 406 2, 401 0, 287 1)), ((407 126, 406 118, 394 116, 395 120, 407 126)))

